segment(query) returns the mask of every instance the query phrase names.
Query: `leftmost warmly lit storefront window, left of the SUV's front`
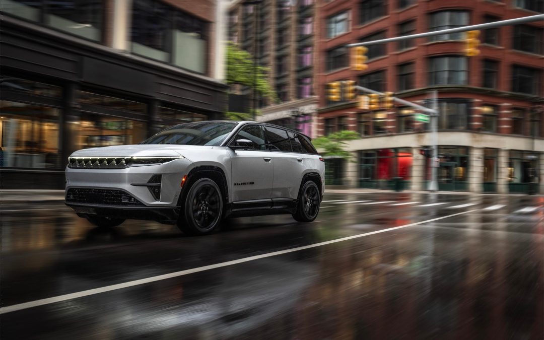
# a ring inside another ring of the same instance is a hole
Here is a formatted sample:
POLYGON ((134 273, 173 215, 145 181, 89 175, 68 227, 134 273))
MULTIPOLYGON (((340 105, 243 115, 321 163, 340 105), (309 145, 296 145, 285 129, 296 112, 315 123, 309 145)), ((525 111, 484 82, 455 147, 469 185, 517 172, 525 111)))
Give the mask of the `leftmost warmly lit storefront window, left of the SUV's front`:
POLYGON ((0 166, 59 168, 60 110, 0 101, 0 166))

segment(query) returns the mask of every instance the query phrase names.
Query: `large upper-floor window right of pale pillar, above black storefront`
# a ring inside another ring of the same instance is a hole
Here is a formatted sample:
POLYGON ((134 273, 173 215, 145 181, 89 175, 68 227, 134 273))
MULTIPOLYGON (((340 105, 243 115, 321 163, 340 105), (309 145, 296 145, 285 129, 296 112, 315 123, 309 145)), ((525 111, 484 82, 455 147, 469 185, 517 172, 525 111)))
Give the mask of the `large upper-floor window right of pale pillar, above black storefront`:
POLYGON ((205 21, 161 2, 135 1, 132 52, 205 73, 207 28, 205 21))

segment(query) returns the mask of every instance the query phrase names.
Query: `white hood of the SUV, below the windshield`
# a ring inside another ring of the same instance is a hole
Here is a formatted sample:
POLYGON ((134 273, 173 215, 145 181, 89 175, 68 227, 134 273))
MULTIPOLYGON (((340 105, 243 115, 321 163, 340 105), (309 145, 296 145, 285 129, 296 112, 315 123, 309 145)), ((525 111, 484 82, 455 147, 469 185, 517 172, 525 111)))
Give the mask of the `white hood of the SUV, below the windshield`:
POLYGON ((134 144, 92 147, 75 151, 71 157, 178 156, 183 150, 211 150, 213 146, 134 144))

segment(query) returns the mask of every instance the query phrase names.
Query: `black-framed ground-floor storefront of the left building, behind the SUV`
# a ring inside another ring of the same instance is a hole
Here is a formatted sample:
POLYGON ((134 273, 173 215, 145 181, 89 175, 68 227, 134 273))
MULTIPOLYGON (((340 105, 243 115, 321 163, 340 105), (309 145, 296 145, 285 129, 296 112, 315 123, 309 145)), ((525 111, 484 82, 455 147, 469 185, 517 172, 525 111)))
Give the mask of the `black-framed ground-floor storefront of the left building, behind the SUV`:
POLYGON ((75 150, 222 118, 226 86, 214 79, 10 20, 1 31, 2 189, 61 189, 75 150))

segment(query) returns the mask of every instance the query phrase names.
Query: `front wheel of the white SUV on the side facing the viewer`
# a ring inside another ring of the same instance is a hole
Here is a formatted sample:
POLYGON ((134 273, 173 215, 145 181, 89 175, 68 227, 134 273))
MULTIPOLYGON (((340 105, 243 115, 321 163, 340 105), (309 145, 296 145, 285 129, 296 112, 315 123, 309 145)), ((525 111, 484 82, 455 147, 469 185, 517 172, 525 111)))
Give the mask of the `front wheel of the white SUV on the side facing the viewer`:
POLYGON ((217 183, 204 177, 196 180, 187 192, 178 228, 188 235, 204 235, 219 229, 223 198, 217 183))

